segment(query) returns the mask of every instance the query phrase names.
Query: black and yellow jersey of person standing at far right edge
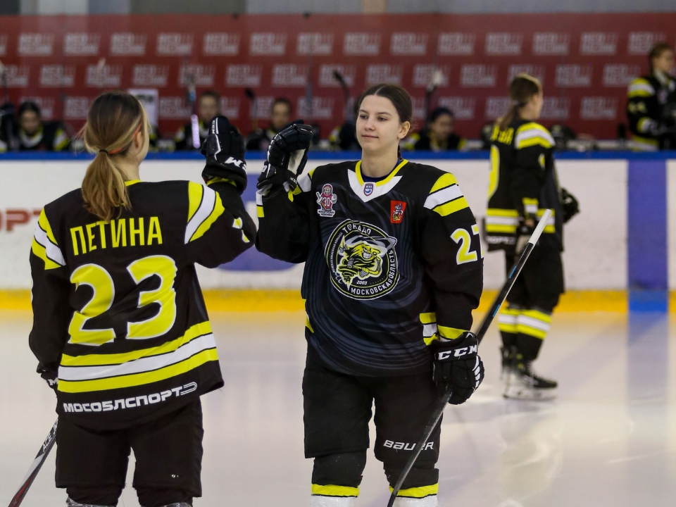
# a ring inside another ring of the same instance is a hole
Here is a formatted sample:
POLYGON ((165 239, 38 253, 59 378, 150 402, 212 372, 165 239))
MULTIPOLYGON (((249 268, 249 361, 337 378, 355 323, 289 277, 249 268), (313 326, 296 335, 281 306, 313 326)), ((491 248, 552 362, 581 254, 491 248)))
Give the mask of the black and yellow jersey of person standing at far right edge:
MULTIPOLYGON (((656 151, 664 147, 665 135, 660 134, 659 127, 665 120, 663 108, 667 104, 676 106, 676 77, 653 73, 637 77, 630 83, 627 89, 627 120, 634 149, 656 151)), ((674 134, 667 135, 674 137, 674 134)), ((671 148, 675 145, 672 144, 671 148)))

